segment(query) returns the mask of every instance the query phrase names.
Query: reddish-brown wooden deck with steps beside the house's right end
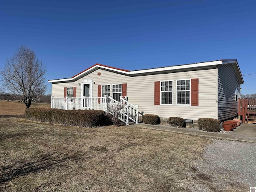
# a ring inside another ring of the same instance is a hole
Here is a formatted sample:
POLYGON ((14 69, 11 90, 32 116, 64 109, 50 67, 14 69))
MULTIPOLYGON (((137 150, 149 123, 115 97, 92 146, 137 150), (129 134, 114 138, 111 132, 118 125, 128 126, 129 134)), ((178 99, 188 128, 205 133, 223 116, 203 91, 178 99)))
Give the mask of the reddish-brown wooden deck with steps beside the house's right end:
POLYGON ((238 99, 238 115, 242 118, 242 123, 256 123, 256 100, 238 99))

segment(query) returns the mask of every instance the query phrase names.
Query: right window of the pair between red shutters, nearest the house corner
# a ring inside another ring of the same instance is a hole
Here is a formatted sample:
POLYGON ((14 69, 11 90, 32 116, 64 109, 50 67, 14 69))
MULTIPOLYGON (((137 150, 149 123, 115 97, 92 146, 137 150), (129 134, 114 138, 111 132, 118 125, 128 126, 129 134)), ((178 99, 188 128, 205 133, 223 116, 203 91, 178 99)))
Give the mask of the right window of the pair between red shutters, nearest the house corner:
POLYGON ((190 105, 190 79, 176 81, 177 104, 190 105))

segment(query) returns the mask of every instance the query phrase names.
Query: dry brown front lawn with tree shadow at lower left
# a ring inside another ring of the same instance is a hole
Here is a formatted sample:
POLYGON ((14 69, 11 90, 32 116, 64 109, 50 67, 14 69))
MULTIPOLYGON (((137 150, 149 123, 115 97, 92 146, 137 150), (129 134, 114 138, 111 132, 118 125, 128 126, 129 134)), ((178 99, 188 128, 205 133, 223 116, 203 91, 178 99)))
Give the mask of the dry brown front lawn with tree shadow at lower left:
POLYGON ((212 191, 225 191, 194 167, 210 143, 129 126, 78 128, 0 118, 0 191, 179 192, 205 182, 212 191))

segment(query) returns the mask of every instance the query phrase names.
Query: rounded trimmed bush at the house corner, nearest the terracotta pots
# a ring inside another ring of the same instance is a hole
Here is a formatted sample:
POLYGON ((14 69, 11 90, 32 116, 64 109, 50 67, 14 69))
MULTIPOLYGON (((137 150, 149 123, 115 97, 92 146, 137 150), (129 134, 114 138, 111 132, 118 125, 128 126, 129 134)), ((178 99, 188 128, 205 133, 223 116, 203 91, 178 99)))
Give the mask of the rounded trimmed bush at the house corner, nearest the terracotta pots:
POLYGON ((200 130, 209 132, 219 132, 220 131, 220 120, 213 118, 199 118, 198 127, 200 130))

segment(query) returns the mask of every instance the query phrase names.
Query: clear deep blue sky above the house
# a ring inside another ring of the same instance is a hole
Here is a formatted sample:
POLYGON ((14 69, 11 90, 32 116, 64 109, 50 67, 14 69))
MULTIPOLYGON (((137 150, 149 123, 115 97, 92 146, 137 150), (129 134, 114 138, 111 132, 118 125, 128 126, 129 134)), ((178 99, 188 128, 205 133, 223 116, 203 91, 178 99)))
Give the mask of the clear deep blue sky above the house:
POLYGON ((255 8, 255 0, 1 0, 0 66, 20 45, 46 64, 47 80, 95 63, 138 70, 237 59, 242 94, 256 93, 255 8))

